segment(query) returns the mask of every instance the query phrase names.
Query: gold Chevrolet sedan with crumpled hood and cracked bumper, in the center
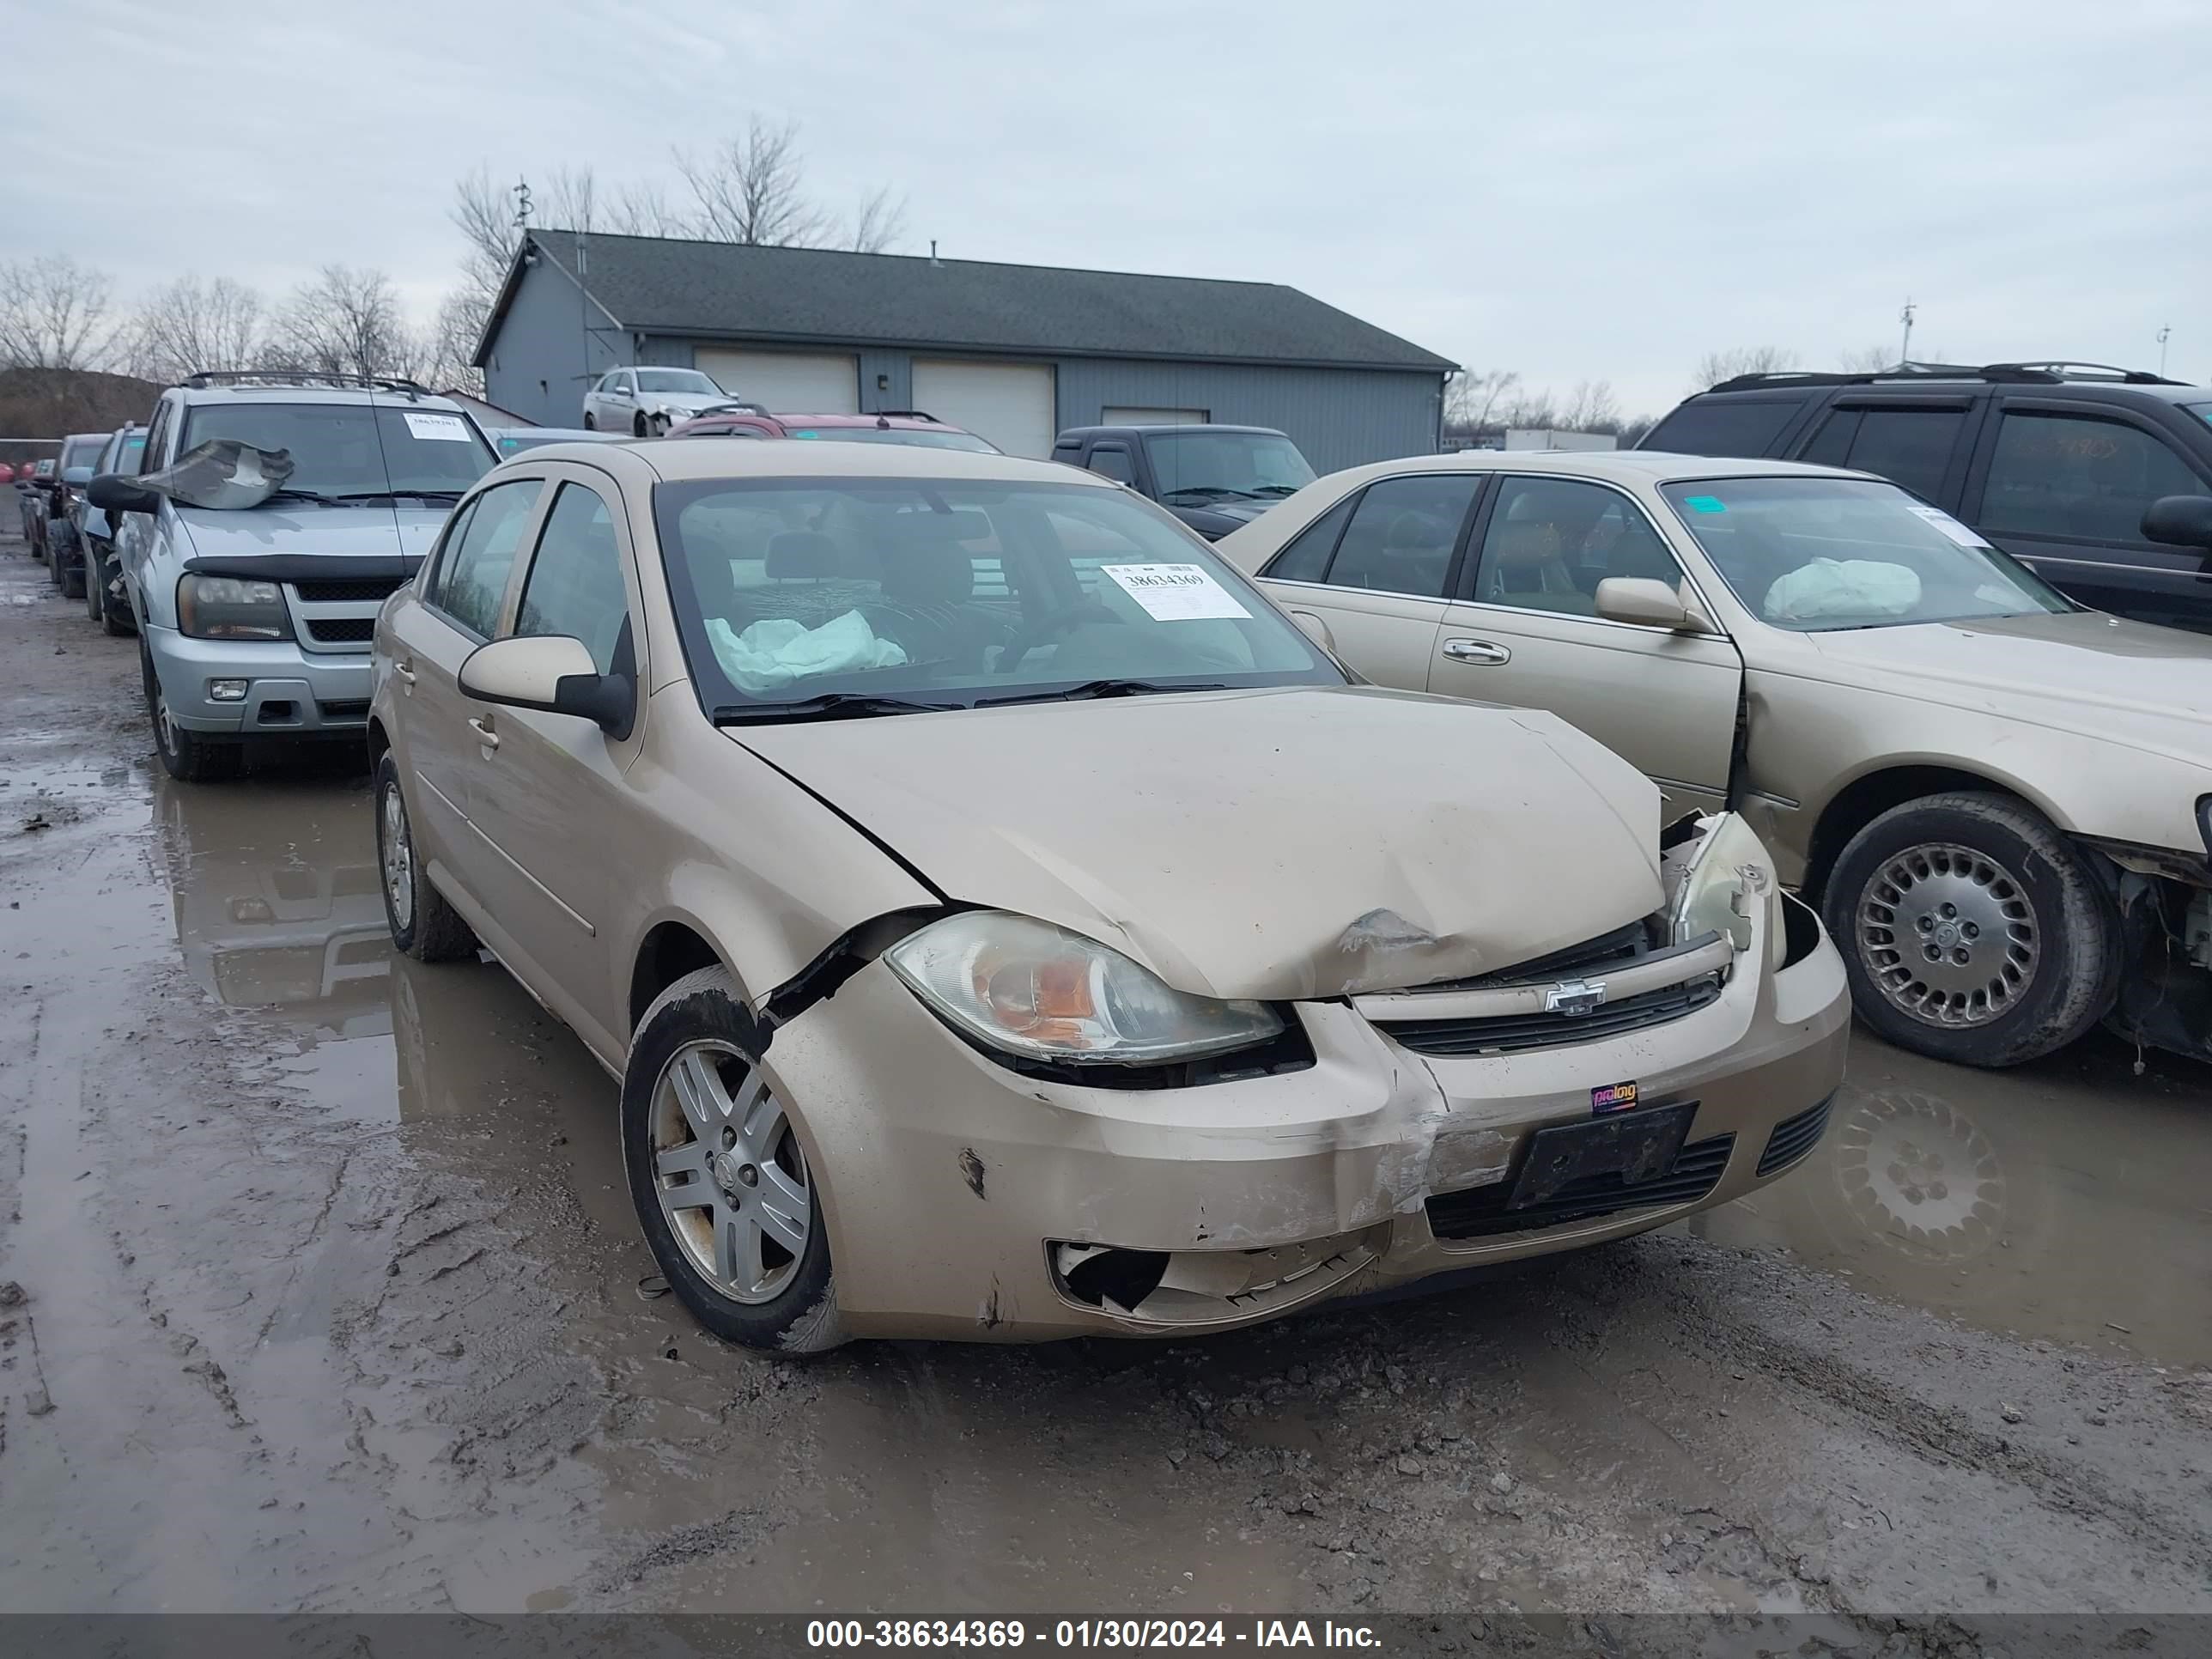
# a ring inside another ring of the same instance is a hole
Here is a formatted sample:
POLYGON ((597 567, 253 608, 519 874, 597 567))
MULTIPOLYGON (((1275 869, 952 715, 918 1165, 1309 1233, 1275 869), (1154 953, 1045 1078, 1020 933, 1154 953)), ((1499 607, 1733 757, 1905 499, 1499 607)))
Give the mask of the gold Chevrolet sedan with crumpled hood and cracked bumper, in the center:
POLYGON ((535 449, 374 661, 394 942, 487 947, 622 1082, 646 1239, 739 1343, 1188 1334, 1588 1245, 1774 1179, 1843 1075, 1741 816, 1349 684, 1066 467, 535 449))

